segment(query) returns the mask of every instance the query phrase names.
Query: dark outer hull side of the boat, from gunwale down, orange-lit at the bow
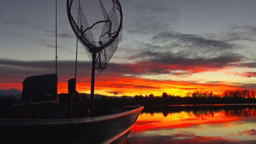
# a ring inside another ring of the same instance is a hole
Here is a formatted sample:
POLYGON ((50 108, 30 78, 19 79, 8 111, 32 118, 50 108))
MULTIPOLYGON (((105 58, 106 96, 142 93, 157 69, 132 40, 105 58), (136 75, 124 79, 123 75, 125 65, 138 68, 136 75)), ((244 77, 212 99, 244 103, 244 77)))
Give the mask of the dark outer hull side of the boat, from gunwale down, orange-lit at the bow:
POLYGON ((81 119, 1 119, 0 142, 120 144, 126 140, 142 109, 81 119))

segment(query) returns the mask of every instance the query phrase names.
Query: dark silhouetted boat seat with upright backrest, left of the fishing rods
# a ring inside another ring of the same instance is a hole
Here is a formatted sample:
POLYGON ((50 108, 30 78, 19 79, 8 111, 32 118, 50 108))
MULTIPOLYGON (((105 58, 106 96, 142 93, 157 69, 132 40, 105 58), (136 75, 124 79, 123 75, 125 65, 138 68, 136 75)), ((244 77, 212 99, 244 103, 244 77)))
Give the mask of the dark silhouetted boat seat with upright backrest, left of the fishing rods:
MULTIPOLYGON (((32 102, 38 97, 46 97, 47 95, 56 95, 57 91, 57 75, 37 75, 29 76, 22 82, 21 104, 13 104, 10 106, 12 111, 24 110, 40 110, 56 106, 56 100, 47 100, 32 102)), ((42 99, 42 98, 41 98, 42 99)), ((58 98, 59 99, 59 98, 58 98)), ((57 100, 58 102, 58 100, 57 100)))

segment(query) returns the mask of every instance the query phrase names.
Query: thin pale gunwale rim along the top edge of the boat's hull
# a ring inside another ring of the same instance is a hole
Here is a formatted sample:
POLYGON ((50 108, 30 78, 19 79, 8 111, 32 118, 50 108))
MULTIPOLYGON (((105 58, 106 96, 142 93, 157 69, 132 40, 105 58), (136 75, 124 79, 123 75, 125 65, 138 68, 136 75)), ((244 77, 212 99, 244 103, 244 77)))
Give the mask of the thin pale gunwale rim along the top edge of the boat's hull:
POLYGON ((112 115, 99 116, 93 118, 78 119, 0 119, 0 126, 28 126, 28 125, 78 125, 82 123, 94 123, 103 120, 118 118, 142 110, 144 107, 128 110, 126 112, 116 113, 112 115))

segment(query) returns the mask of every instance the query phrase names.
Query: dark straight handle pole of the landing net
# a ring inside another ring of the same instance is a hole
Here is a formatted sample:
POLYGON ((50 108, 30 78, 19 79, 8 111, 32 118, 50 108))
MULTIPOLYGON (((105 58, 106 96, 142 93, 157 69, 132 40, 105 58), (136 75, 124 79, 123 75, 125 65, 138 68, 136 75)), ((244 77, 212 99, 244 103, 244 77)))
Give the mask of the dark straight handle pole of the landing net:
POLYGON ((93 66, 91 68, 91 99, 90 99, 90 118, 93 117, 93 105, 94 105, 94 79, 95 79, 95 61, 96 52, 93 51, 93 66))

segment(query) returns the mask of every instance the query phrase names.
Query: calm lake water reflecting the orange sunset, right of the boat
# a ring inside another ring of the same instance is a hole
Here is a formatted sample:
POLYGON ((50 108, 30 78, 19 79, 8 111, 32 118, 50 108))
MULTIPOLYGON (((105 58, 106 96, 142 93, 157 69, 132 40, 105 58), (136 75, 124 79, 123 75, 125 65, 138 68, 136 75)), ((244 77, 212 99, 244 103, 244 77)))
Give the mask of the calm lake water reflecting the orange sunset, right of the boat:
POLYGON ((130 144, 256 144, 256 105, 145 108, 130 144))

